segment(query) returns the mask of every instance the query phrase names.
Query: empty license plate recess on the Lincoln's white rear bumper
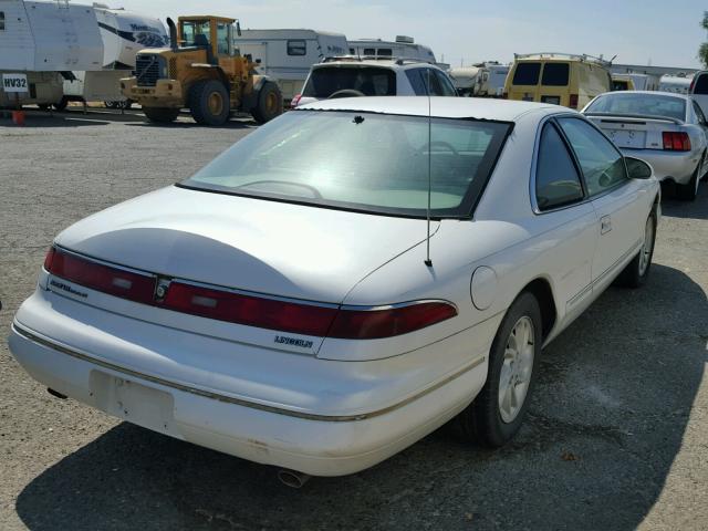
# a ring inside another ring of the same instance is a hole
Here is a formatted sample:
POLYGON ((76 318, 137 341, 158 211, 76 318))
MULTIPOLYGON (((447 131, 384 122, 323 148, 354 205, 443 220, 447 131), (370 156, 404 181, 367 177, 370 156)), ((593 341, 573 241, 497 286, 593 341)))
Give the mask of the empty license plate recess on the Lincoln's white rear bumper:
POLYGON ((101 371, 91 373, 91 392, 96 407, 108 415, 173 437, 175 400, 169 393, 101 371))

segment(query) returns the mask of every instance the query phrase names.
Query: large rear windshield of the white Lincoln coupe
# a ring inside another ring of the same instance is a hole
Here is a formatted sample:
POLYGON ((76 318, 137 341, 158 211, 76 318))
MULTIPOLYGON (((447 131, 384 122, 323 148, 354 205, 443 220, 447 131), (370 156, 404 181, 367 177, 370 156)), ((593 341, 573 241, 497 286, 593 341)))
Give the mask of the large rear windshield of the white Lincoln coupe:
POLYGON ((293 111, 260 127, 183 186, 424 218, 471 214, 510 125, 293 111))

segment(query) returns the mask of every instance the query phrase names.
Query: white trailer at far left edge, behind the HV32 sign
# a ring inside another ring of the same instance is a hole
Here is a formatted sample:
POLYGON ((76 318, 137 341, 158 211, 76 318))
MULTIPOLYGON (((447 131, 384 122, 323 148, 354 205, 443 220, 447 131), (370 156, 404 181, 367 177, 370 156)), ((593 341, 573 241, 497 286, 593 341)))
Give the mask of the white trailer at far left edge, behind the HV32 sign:
POLYGON ((0 106, 56 103, 62 75, 101 69, 102 59, 92 7, 0 0, 0 74, 25 74, 29 85, 17 98, 0 90, 0 106))

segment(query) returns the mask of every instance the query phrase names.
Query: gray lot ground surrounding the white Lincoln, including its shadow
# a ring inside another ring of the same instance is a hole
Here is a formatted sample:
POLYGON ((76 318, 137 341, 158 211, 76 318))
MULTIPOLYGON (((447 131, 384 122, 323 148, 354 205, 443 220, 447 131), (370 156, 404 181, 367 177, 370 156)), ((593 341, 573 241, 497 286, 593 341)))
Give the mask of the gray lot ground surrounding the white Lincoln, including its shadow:
MULTIPOLYGON (((251 122, 0 118, 0 335, 52 237, 189 176, 251 122)), ((311 480, 119 423, 33 382, 0 343, 0 529, 706 529, 708 186, 666 198, 655 266, 543 352, 530 416, 489 451, 445 429, 367 471, 311 480)))

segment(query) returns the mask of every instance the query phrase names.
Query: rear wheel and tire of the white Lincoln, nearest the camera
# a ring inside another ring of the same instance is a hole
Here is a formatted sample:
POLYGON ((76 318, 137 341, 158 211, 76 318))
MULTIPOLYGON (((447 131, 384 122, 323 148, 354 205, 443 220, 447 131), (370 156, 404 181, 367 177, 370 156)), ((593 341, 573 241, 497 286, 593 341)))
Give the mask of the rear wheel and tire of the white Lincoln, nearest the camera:
POLYGON ((458 436, 498 448, 519 431, 535 383, 543 343, 541 331, 539 303, 531 293, 523 292, 511 304, 497 331, 489 351, 489 368, 482 391, 472 404, 452 419, 451 427, 458 436), (523 337, 519 334, 523 334, 524 330, 531 332, 527 336, 529 341, 522 341, 524 345, 519 352, 514 350, 516 342, 518 336, 523 337), (502 383, 506 385, 502 386, 502 383), (504 389, 511 391, 507 393, 504 389), (521 400, 516 408, 509 402, 511 396, 521 400), (502 403, 507 406, 502 406, 502 403))

